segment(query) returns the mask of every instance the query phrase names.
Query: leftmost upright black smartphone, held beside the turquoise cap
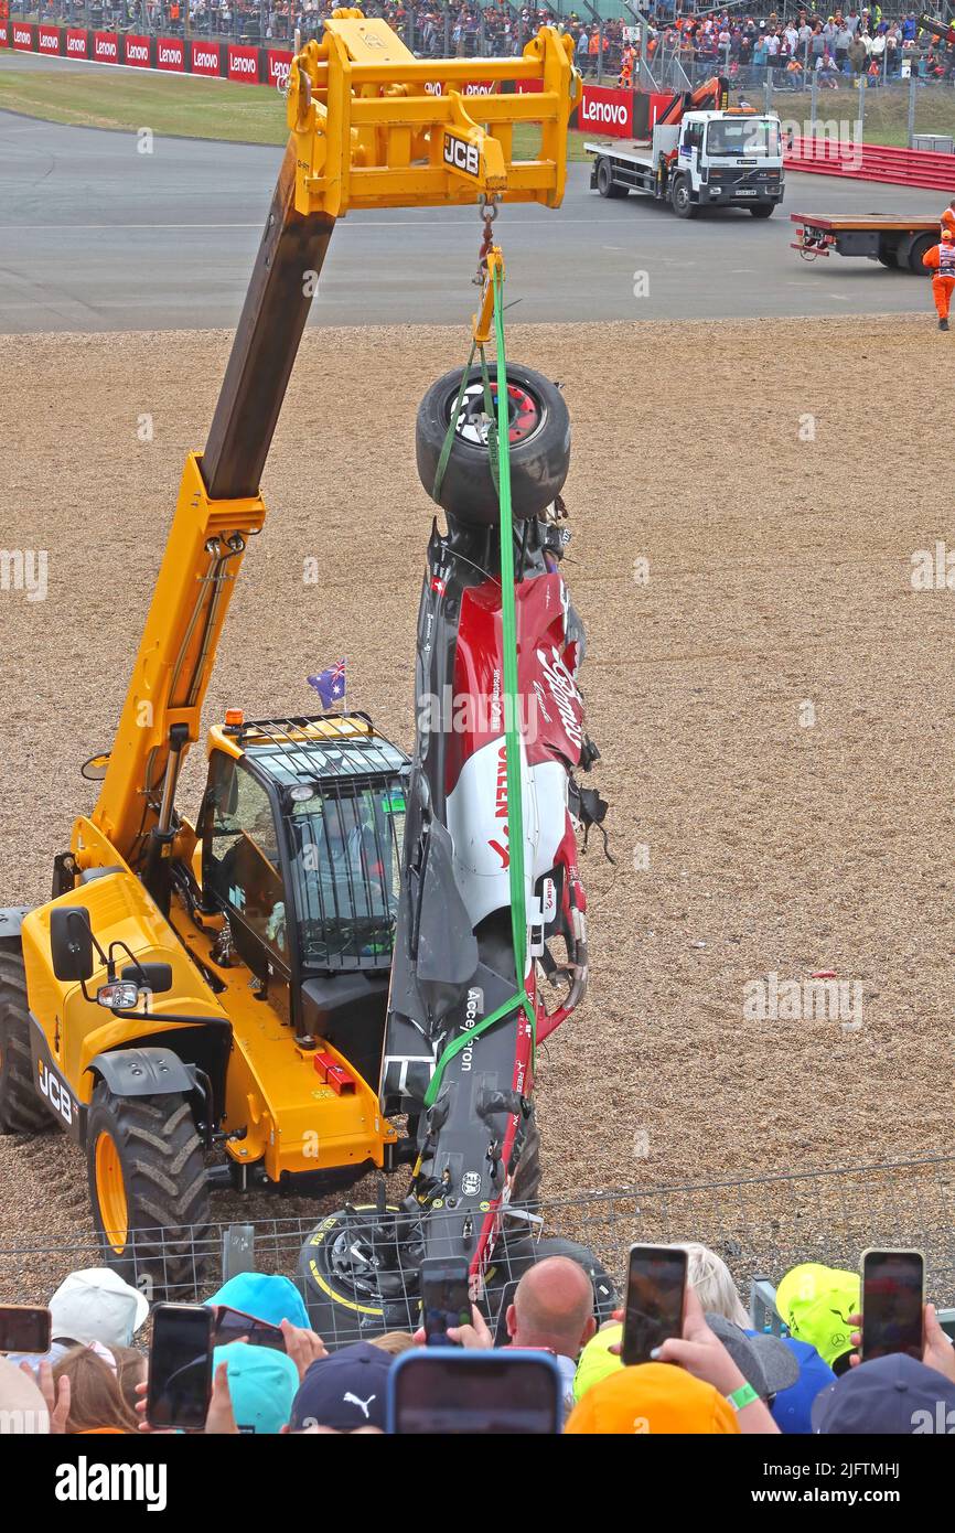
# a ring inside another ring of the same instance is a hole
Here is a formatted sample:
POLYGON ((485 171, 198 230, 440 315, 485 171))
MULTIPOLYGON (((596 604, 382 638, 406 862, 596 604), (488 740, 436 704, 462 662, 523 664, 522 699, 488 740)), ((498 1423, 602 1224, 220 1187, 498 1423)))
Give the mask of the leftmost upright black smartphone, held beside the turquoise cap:
POLYGON ((149 1351, 146 1420, 198 1432, 212 1395, 215 1315, 207 1305, 156 1305, 149 1351))

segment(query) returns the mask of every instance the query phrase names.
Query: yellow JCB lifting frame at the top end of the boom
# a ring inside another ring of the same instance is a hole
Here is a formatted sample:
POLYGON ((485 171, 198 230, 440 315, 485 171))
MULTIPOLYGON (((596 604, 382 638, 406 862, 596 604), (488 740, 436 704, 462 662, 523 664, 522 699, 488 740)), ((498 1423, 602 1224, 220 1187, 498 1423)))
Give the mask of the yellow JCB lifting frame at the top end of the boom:
POLYGON ((334 11, 288 77, 296 212, 342 218, 350 208, 480 195, 556 207, 579 95, 573 40, 552 26, 517 58, 423 60, 385 21, 334 11), (481 94, 466 95, 475 77, 481 94), (518 80, 532 89, 501 92, 518 80), (541 124, 540 158, 514 158, 520 123, 541 124))

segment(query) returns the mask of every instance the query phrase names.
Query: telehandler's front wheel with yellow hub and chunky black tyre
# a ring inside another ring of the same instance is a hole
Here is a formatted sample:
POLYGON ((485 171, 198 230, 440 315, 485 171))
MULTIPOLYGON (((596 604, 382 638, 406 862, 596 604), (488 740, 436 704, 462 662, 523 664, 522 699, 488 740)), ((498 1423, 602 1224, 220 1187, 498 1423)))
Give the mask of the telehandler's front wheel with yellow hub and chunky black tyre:
POLYGON ((208 1180, 189 1099, 115 1096, 101 1081, 86 1156, 106 1263, 149 1283, 150 1300, 192 1298, 208 1256, 208 1180))

